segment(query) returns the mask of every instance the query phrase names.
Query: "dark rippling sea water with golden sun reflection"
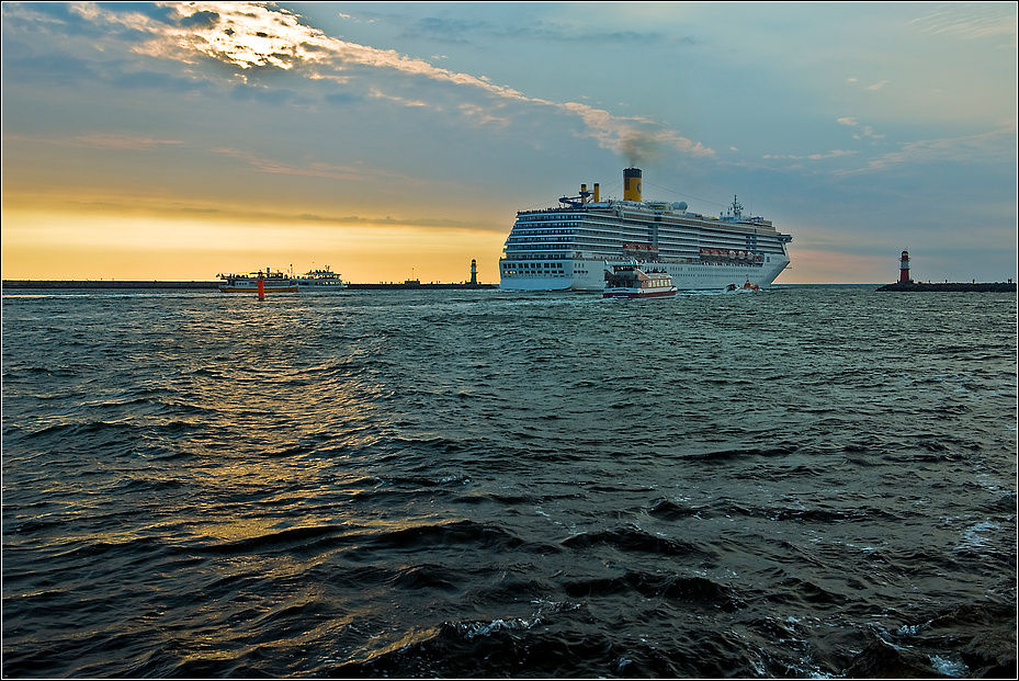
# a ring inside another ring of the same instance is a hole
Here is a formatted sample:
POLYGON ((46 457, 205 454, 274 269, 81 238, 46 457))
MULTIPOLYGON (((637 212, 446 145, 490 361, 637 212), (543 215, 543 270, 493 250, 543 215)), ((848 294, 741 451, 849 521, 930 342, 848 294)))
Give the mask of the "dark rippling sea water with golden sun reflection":
POLYGON ((830 677, 875 645, 962 677, 1015 643, 1012 294, 2 317, 7 678, 830 677))

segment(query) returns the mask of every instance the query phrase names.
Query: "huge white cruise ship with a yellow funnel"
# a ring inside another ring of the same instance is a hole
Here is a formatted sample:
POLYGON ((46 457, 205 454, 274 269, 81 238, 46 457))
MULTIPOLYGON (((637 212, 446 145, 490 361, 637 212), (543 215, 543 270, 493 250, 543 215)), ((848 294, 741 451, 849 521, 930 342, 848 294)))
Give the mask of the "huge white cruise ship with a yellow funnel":
POLYGON ((556 207, 518 211, 499 259, 500 287, 602 291, 605 272, 626 263, 664 270, 680 291, 766 287, 789 265, 792 237, 745 216, 735 196, 714 217, 642 195, 642 171, 626 168, 622 200, 602 201, 598 184, 592 192, 581 184, 556 207))

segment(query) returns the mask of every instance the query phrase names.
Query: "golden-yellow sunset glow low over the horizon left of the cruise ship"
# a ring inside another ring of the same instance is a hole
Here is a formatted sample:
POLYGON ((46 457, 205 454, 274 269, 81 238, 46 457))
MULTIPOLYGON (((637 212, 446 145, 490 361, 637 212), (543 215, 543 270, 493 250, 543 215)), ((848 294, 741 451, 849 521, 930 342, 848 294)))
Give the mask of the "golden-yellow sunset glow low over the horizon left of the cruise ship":
POLYGON ((502 236, 492 231, 307 220, 219 219, 215 229, 190 218, 154 215, 5 212, 4 279, 204 281, 217 272, 331 264, 348 281, 466 281, 478 260, 480 281, 498 281, 491 263, 502 236), (201 243, 201 248, 195 248, 201 243), (341 254, 342 262, 335 261, 341 254))

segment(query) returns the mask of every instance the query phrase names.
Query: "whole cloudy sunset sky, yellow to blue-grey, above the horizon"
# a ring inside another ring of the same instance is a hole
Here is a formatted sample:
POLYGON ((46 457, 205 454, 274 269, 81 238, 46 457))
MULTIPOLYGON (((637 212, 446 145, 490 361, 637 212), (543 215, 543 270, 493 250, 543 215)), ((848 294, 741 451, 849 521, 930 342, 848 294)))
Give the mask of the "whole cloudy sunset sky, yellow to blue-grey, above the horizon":
POLYGON ((498 282, 598 182, 779 284, 1017 276, 1017 4, 2 4, 3 279, 498 282))

